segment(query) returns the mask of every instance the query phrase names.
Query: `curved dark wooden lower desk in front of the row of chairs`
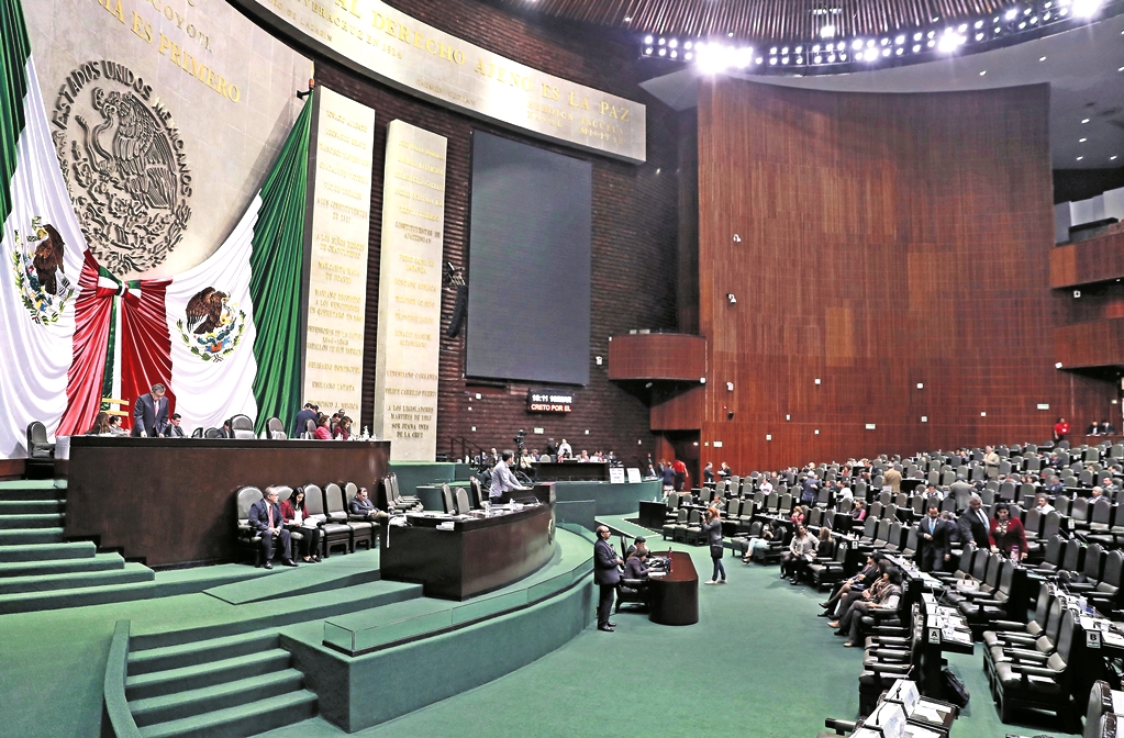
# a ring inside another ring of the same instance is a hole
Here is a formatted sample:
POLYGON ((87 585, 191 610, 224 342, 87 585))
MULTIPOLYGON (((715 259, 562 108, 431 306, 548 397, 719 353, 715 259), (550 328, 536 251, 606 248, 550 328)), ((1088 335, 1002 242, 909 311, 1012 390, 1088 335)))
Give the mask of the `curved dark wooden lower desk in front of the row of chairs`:
POLYGON ((537 571, 554 555, 554 508, 546 503, 495 505, 469 516, 406 516, 382 537, 382 578, 425 585, 446 600, 497 590, 537 571), (441 526, 441 528, 438 528, 441 526))

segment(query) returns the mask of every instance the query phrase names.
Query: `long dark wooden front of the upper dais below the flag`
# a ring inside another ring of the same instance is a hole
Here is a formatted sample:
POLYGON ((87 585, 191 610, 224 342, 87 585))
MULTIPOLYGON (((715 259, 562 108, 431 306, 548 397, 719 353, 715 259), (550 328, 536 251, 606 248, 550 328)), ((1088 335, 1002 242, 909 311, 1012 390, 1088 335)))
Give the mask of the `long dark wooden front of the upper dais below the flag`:
POLYGON ((390 443, 71 438, 65 536, 148 566, 235 557, 235 492, 355 482, 378 489, 390 443))

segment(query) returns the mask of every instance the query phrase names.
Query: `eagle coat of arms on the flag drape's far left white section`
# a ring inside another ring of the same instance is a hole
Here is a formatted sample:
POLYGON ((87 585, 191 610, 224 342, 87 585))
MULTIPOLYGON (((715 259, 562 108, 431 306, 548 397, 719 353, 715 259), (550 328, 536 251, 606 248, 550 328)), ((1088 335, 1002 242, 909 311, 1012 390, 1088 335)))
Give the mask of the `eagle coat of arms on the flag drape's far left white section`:
POLYGON ((40 218, 31 218, 33 238, 25 243, 16 231, 16 244, 11 252, 16 290, 31 320, 42 325, 58 322, 66 302, 74 297, 74 286, 66 279, 63 265, 62 236, 51 224, 40 218))

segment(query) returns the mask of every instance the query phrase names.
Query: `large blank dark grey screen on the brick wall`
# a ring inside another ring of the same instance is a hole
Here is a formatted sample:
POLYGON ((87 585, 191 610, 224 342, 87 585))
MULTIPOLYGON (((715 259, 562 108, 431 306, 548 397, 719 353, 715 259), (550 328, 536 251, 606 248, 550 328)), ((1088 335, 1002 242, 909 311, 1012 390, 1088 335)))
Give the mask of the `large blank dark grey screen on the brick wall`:
POLYGON ((469 376, 589 382, 592 167, 472 135, 469 376))

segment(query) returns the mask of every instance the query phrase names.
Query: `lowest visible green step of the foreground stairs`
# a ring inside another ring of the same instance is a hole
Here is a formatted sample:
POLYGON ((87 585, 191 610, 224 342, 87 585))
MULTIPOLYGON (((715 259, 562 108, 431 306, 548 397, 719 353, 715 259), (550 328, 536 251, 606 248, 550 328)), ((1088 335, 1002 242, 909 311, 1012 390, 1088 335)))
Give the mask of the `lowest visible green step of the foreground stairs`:
POLYGON ((140 729, 144 738, 235 738, 291 726, 316 714, 316 695, 288 692, 236 708, 205 712, 140 729))

